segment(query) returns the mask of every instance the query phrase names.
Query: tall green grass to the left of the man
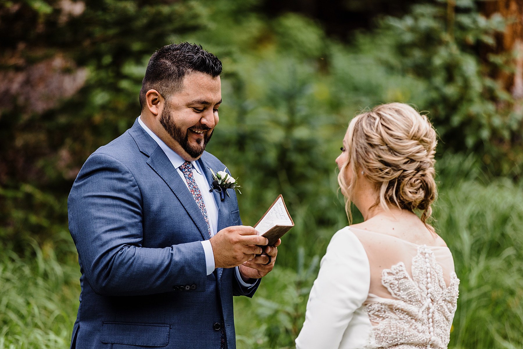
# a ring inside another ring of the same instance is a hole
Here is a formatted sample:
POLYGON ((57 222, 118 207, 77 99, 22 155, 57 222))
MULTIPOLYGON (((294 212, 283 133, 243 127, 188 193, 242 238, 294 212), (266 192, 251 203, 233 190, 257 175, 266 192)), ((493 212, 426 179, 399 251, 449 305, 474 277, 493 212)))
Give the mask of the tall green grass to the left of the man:
POLYGON ((68 348, 79 296, 79 267, 69 233, 26 255, 0 247, 0 349, 68 348))

